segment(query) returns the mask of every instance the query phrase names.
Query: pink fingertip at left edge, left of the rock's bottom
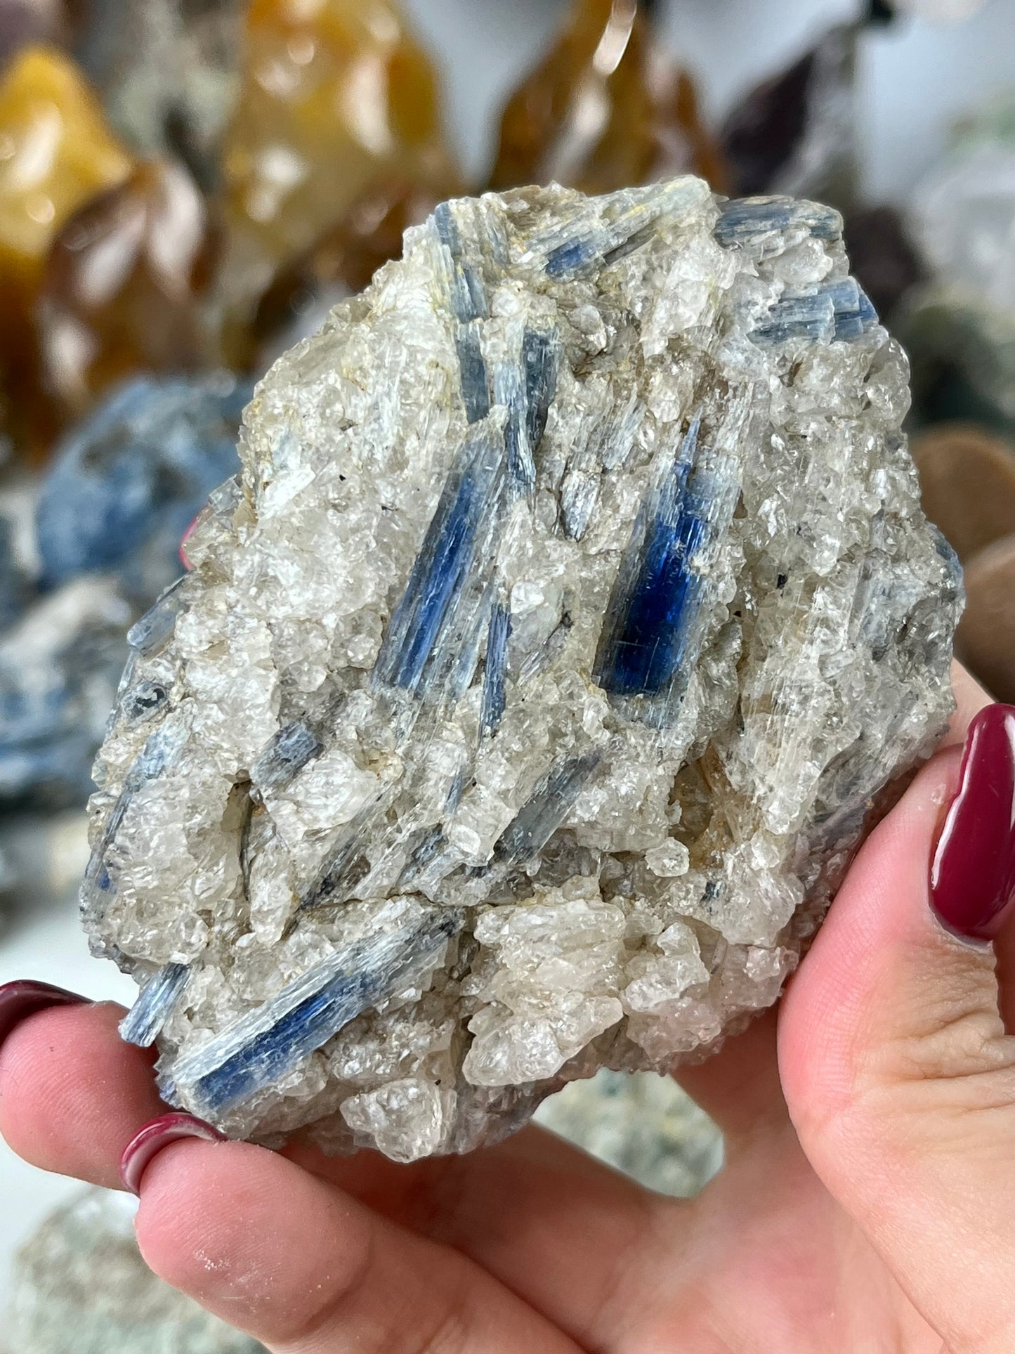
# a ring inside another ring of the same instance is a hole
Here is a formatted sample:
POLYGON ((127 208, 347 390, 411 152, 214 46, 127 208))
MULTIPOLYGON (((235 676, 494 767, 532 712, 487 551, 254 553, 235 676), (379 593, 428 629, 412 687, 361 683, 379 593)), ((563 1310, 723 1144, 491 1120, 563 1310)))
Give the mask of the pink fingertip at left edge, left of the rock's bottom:
POLYGON ((119 1189, 120 1152, 164 1114, 152 1052, 125 1044, 123 1007, 68 1006, 23 1021, 0 1049, 0 1133, 34 1166, 119 1189))

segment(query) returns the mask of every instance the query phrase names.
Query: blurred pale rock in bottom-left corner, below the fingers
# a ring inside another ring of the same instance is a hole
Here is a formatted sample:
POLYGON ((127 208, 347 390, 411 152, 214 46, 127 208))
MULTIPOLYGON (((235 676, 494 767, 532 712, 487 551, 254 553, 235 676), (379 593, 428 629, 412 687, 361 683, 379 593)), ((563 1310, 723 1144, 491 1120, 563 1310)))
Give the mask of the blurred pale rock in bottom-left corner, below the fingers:
POLYGON ((57 1209, 14 1262, 9 1354, 264 1354, 156 1278, 134 1239, 137 1201, 89 1189, 57 1209))

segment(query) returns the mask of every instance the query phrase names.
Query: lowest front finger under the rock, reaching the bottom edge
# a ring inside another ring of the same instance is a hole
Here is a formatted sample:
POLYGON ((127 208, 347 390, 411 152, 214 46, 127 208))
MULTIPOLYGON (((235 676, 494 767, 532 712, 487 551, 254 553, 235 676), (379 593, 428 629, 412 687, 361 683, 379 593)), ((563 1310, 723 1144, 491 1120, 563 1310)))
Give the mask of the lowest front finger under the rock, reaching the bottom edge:
POLYGON ((137 1233, 156 1274, 280 1354, 578 1354, 478 1265, 258 1147, 168 1147, 137 1233))

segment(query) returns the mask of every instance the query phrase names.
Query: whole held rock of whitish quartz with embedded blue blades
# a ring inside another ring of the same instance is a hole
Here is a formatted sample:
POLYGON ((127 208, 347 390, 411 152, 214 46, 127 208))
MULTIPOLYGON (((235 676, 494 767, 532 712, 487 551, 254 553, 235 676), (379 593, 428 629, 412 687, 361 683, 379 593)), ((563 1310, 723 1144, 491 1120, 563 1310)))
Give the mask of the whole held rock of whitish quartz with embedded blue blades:
POLYGON ((84 915, 169 1101, 410 1160, 775 999, 951 708, 840 232, 452 202, 258 386, 96 766, 84 915))

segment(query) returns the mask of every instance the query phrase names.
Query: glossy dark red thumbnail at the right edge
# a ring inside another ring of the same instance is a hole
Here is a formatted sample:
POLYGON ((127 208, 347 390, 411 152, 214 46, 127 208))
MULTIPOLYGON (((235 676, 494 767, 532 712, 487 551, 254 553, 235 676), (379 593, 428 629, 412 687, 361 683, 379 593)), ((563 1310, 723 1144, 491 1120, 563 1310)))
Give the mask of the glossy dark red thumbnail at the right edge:
POLYGON ((976 940, 1015 896, 1015 705, 988 705, 969 726, 958 791, 931 864, 931 902, 976 940))

